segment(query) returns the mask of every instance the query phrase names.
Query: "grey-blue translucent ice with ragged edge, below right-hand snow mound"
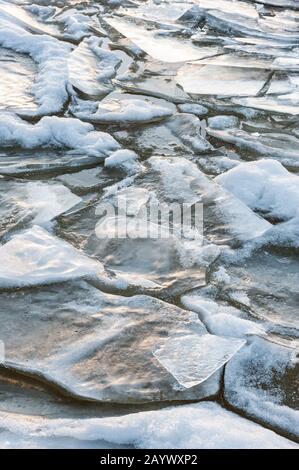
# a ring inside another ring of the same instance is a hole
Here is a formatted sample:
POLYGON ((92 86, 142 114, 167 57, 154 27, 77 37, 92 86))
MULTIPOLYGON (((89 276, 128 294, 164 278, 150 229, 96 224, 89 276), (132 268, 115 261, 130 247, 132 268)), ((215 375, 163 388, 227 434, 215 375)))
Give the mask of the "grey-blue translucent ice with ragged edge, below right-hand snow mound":
POLYGON ((271 323, 271 328, 284 334, 298 327, 299 260, 295 254, 279 253, 267 248, 252 253, 246 265, 226 266, 230 284, 221 295, 240 289, 250 302, 255 317, 271 323))

